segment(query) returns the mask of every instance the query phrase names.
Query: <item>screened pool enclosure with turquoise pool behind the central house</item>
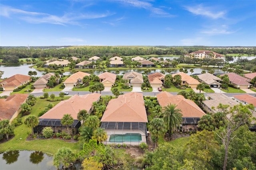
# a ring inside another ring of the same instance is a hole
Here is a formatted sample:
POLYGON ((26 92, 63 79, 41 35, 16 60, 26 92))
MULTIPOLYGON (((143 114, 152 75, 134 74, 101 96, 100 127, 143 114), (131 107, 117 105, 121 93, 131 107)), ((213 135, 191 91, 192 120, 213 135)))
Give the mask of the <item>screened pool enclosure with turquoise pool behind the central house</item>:
POLYGON ((103 144, 139 145, 147 143, 146 123, 142 122, 102 122, 101 128, 107 132, 108 138, 103 144))

